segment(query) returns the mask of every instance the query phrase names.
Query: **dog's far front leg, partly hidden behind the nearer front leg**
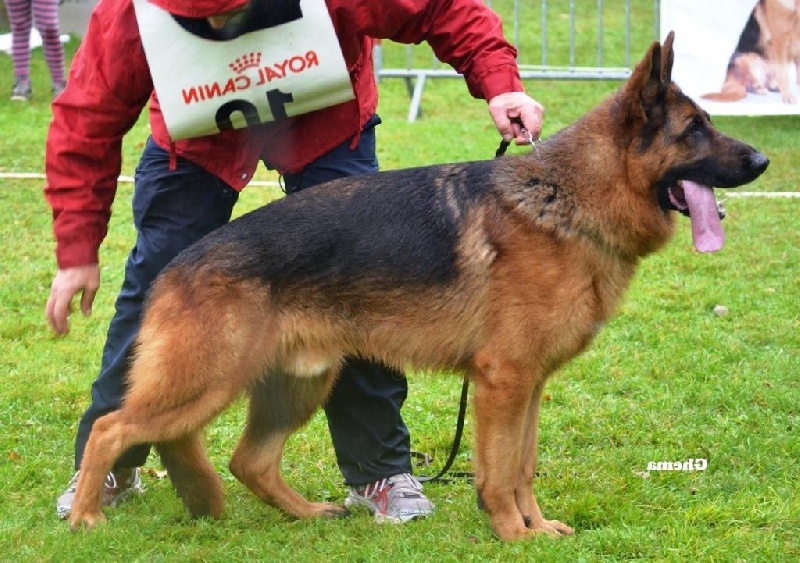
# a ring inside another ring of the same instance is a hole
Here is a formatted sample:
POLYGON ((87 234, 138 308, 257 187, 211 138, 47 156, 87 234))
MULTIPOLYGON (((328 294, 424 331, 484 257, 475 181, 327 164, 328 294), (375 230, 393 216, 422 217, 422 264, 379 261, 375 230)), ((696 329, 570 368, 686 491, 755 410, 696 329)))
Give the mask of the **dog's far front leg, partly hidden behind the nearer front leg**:
POLYGON ((536 495, 533 493, 533 479, 536 473, 539 442, 539 407, 542 402, 544 380, 539 381, 533 390, 528 416, 525 423, 525 434, 522 439, 522 460, 515 496, 517 506, 522 513, 528 528, 535 532, 544 532, 553 536, 569 535, 574 530, 558 520, 545 520, 536 495))

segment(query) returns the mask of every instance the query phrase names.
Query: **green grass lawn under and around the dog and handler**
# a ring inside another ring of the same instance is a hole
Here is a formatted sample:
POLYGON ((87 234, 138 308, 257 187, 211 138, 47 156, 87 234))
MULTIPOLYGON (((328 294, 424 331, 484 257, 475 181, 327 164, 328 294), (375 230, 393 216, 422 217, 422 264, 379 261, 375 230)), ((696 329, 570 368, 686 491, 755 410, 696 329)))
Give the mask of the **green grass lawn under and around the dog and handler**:
MULTIPOLYGON (((649 25, 649 24, 648 24, 649 25)), ((69 52, 76 45, 70 44, 69 52)), ((643 51, 640 45, 635 53, 643 51)), ((0 57, 0 76, 10 77, 0 57)), ((544 135, 581 115, 617 85, 528 83, 547 108, 544 135)), ((10 90, 10 78, 0 93, 10 90)), ((50 119, 41 52, 34 101, 0 96, 0 172, 41 172, 50 119)), ((381 85, 384 168, 484 159, 497 135, 483 102, 458 80, 430 81, 424 118, 407 124, 400 80, 381 85)), ((766 152, 768 172, 748 191, 793 191, 800 118, 716 120, 766 152)), ((146 136, 126 139, 131 174, 146 136)), ((515 152, 527 150, 514 147, 515 152)), ((274 179, 262 171, 261 179, 274 179)), ((553 378, 542 413, 545 514, 577 529, 571 538, 503 544, 463 481, 428 485, 437 513, 404 527, 364 514, 292 522, 264 506, 226 469, 243 423, 236 404, 208 431, 226 483, 222 520, 191 521, 151 459, 141 498, 107 511, 109 524, 73 534, 56 520, 55 497, 71 475, 74 431, 87 405, 120 275, 133 238, 131 187, 120 187, 103 246, 103 285, 90 318, 54 337, 44 304, 54 274, 41 180, 0 179, 0 559, 15 561, 791 561, 800 558, 800 221, 797 199, 731 198, 726 248, 700 255, 688 223, 642 264, 619 315, 591 349, 553 378), (728 308, 717 316, 716 305, 728 308), (645 473, 649 461, 710 460, 707 471, 645 473)), ((277 197, 243 192, 237 213, 277 197)), ((404 409, 413 447, 446 457, 460 382, 413 374, 404 409)), ((470 468, 467 428, 456 470, 470 468)), ((435 468, 421 469, 433 472, 435 468)), ((341 501, 324 419, 291 440, 287 479, 315 500, 341 501)))

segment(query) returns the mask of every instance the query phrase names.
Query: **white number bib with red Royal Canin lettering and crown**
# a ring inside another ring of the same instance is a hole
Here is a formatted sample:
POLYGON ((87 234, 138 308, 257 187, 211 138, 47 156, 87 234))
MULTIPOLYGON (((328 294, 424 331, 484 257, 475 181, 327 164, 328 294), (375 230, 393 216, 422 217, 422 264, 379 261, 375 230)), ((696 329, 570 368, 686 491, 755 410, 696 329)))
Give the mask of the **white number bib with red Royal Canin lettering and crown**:
POLYGON ((324 0, 302 17, 212 41, 134 0, 147 63, 172 139, 212 135, 352 100, 353 87, 324 0))

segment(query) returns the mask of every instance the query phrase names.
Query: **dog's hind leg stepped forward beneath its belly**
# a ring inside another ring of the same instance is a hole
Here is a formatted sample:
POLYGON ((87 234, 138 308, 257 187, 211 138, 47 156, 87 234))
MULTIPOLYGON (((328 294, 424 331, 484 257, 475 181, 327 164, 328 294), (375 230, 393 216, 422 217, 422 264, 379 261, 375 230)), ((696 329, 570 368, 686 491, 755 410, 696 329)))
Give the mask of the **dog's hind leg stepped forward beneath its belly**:
POLYGON ((343 506, 312 503, 289 487, 280 475, 286 440, 322 405, 336 369, 301 377, 274 371, 250 392, 247 428, 230 463, 231 472, 264 502, 296 518, 342 516, 343 506))

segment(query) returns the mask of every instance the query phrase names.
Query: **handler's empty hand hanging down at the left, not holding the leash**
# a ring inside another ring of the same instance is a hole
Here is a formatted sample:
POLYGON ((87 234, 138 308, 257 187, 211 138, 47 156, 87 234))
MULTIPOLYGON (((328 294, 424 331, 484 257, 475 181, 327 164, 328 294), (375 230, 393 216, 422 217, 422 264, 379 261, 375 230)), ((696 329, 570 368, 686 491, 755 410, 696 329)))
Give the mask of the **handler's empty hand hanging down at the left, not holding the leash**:
POLYGON ((92 314, 92 303, 100 287, 100 268, 97 264, 65 268, 56 273, 47 300, 47 320, 57 334, 69 332, 68 317, 72 312, 72 298, 81 293, 81 311, 85 317, 92 314))

